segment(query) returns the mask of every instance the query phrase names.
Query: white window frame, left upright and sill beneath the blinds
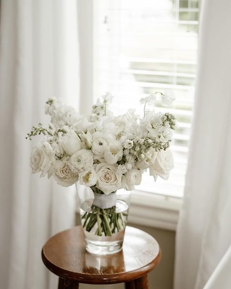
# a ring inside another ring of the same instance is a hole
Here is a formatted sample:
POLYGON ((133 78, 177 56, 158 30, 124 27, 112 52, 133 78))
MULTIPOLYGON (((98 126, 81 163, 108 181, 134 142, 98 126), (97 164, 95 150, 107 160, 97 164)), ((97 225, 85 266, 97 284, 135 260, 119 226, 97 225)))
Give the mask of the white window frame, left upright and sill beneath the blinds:
MULTIPOLYGON (((93 17, 94 1, 78 0, 78 38, 80 73, 80 112, 89 113, 93 104, 93 17), (86 17, 86 15, 88 17, 86 17)), ((132 191, 129 222, 132 224, 176 230, 183 197, 132 191)), ((77 206, 78 207, 78 206, 77 206)), ((78 211, 78 209, 77 209, 78 211)))

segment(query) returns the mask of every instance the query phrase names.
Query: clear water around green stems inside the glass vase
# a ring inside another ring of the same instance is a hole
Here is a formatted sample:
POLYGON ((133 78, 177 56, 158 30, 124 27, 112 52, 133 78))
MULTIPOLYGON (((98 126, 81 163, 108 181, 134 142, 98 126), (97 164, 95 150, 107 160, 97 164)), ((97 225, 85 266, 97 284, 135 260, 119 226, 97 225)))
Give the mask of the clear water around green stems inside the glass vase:
POLYGON ((128 219, 128 205, 117 200, 116 206, 101 209, 93 206, 93 199, 80 208, 81 224, 85 233, 86 249, 94 254, 112 254, 122 248, 128 219))

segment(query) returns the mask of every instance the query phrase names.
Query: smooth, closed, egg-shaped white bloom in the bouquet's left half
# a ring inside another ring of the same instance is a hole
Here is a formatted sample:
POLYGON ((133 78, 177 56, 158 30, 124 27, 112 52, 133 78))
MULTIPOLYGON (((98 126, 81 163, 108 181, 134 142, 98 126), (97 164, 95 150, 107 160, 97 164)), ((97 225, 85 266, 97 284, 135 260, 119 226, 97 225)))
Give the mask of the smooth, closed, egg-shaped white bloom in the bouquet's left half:
POLYGON ((74 130, 69 130, 64 135, 58 138, 58 144, 68 155, 73 155, 81 148, 81 141, 74 130))

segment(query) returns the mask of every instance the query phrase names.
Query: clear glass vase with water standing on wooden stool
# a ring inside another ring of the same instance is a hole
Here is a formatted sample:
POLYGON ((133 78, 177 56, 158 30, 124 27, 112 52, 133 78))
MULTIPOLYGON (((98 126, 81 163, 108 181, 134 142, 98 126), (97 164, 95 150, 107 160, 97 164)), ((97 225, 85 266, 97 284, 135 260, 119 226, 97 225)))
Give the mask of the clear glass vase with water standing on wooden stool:
POLYGON ((130 192, 118 190, 105 195, 77 184, 77 194, 87 251, 98 255, 120 251, 128 219, 130 192))

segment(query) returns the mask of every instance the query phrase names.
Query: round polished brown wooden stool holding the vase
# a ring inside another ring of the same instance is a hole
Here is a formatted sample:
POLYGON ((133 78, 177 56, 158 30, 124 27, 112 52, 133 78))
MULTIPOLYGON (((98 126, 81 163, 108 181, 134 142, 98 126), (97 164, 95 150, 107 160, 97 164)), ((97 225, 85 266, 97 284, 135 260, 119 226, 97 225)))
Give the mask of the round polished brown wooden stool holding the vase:
POLYGON ((42 248, 42 261, 59 276, 58 289, 78 289, 79 283, 115 284, 148 289, 147 273, 160 261, 160 248, 148 233, 126 227, 123 249, 94 255, 85 249, 84 232, 77 226, 51 237, 42 248))

